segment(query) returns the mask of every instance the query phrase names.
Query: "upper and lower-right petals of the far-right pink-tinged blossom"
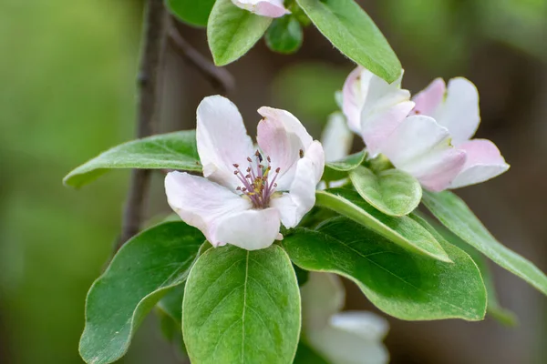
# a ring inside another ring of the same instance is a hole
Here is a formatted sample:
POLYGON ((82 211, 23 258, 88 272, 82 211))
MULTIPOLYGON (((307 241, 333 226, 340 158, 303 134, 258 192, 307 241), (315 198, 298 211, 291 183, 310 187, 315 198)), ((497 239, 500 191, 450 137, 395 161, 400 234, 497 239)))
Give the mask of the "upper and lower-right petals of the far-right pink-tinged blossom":
POLYGON ((413 113, 432 116, 448 129, 452 143, 467 159, 449 188, 474 185, 497 177, 509 169, 500 150, 490 140, 471 139, 480 124, 479 92, 469 80, 457 77, 445 86, 435 79, 414 97, 413 113))

